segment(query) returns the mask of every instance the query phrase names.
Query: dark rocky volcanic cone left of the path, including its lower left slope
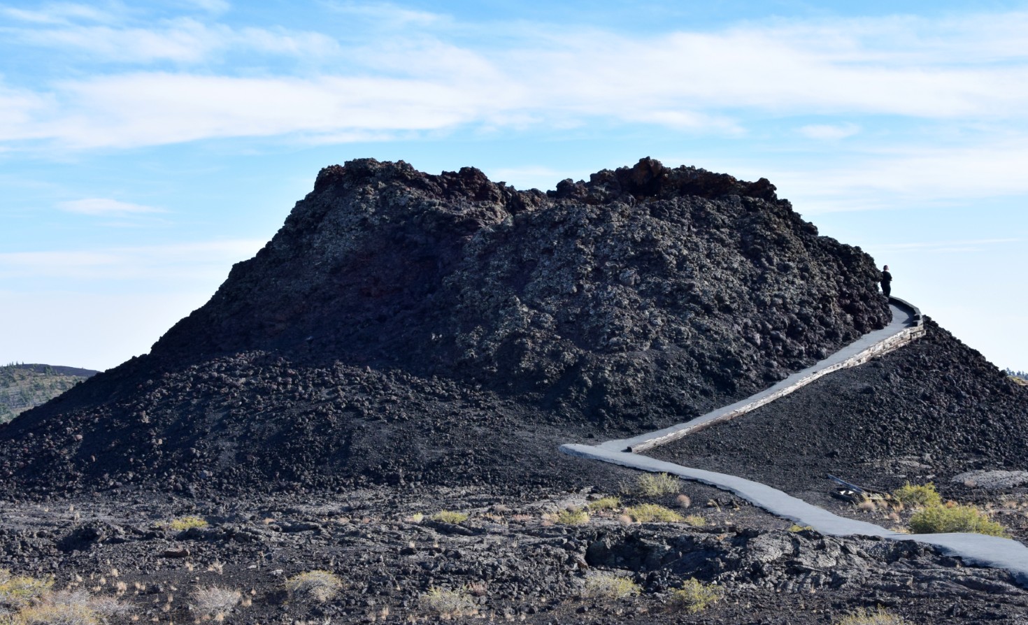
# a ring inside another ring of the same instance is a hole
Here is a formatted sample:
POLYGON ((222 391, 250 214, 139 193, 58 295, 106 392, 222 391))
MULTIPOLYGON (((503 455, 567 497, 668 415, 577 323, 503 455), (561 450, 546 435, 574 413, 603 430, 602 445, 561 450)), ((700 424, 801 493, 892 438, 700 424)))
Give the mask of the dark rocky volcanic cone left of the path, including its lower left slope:
POLYGON ((289 481, 309 481, 314 466, 380 479, 395 471, 375 467, 397 463, 436 480, 418 469, 432 453, 377 449, 387 457, 369 464, 363 450, 380 443, 355 439, 355 419, 432 424, 431 436, 476 411, 667 425, 882 327, 877 279, 867 254, 818 236, 764 179, 647 158, 543 193, 471 168, 350 161, 323 170, 271 242, 149 356, 0 430, 0 471, 36 475, 42 449, 77 480, 149 479, 141 458, 171 475, 217 448, 222 469, 289 481), (451 395, 471 399, 437 405, 451 395), (97 453, 105 470, 83 470, 97 453))

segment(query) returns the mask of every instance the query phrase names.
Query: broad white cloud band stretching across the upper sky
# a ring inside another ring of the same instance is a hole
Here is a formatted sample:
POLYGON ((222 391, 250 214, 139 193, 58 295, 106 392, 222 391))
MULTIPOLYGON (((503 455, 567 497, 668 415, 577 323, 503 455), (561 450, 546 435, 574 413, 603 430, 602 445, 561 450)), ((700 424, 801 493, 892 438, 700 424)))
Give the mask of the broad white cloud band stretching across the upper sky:
MULTIPOLYGON (((333 6, 391 24, 443 20, 388 4, 333 6)), ((798 115, 1023 123, 1028 56, 1015 45, 1018 31, 1009 24, 1028 26, 1028 17, 779 22, 645 38, 517 24, 478 44, 415 32, 350 48, 320 33, 231 29, 192 19, 145 28, 25 29, 19 36, 27 41, 89 58, 206 63, 215 52, 251 49, 345 59, 340 67, 347 69, 247 77, 216 69, 94 75, 52 83, 48 91, 23 89, 6 103, 0 91, 0 106, 10 108, 0 111, 0 141, 40 139, 79 149, 225 137, 326 142, 462 125, 566 128, 597 119, 740 135, 755 117, 798 115), (958 58, 943 46, 967 50, 985 36, 993 37, 988 53, 958 58), (36 101, 47 106, 34 108, 36 101)), ((832 122, 799 128, 822 140, 859 131, 832 122)))

